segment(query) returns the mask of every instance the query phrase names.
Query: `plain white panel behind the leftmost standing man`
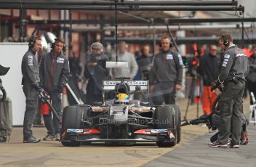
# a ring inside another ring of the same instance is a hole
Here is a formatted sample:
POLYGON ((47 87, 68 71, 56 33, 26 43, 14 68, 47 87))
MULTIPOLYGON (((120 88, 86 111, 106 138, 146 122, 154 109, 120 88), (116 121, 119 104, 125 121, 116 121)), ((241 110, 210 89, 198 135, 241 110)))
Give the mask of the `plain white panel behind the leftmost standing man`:
POLYGON ((21 85, 21 61, 28 51, 28 43, 0 43, 0 64, 10 67, 5 76, 0 76, 3 81, 7 97, 12 99, 13 125, 23 125, 25 113, 25 95, 21 85))

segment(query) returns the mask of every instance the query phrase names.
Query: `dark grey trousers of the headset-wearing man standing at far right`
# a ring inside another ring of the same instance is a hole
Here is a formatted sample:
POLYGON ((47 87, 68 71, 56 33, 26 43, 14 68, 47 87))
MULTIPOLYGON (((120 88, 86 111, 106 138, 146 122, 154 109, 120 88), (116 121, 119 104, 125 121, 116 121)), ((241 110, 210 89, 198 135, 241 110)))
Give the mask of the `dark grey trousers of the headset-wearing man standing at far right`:
POLYGON ((218 140, 221 144, 228 143, 232 131, 231 144, 239 144, 241 137, 242 97, 245 83, 229 81, 220 95, 220 132, 218 140), (231 126, 232 123, 232 126, 231 126))

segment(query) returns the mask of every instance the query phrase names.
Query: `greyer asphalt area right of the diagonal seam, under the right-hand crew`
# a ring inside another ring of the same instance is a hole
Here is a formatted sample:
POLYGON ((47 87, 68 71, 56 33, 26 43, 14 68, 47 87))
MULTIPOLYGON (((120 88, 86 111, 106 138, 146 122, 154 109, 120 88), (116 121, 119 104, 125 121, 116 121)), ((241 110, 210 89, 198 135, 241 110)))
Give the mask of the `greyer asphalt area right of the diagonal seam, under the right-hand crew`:
POLYGON ((235 148, 212 148, 207 145, 211 134, 205 134, 193 140, 191 144, 162 155, 144 166, 256 166, 256 126, 248 127, 249 143, 235 148))

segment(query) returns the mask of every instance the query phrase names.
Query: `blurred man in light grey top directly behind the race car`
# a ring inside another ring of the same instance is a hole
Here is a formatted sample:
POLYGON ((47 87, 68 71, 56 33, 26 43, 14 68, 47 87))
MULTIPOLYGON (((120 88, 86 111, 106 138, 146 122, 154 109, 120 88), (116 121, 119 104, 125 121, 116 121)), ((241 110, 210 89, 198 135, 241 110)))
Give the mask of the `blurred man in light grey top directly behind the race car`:
MULTIPOLYGON (((116 56, 112 57, 112 61, 116 61, 116 56)), ((127 52, 127 44, 124 41, 119 42, 118 61, 128 62, 128 68, 111 68, 111 79, 127 77, 132 80, 137 74, 137 62, 134 55, 127 52)))

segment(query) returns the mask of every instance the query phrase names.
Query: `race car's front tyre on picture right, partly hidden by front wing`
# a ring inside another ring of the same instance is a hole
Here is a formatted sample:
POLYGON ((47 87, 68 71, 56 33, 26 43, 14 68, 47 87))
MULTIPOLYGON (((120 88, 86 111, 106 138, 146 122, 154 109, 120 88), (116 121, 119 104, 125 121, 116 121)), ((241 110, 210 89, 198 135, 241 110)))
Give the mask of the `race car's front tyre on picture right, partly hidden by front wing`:
MULTIPOLYGON (((175 129, 174 114, 172 106, 163 105, 155 110, 156 129, 175 129)), ((159 141, 156 142, 159 147, 172 147, 175 146, 176 141, 159 141)))

